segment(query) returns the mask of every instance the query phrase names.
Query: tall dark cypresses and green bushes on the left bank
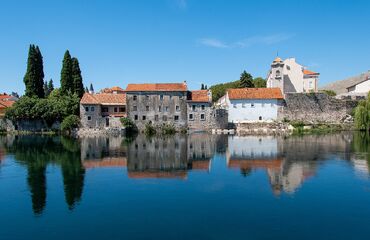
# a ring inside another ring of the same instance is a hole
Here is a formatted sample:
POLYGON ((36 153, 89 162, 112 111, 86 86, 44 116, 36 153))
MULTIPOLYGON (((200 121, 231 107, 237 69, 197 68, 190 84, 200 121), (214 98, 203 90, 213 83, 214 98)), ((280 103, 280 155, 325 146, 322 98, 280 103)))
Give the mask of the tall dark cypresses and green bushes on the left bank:
POLYGON ((40 48, 30 45, 24 76, 25 95, 6 111, 11 120, 44 120, 48 124, 79 114, 79 101, 85 92, 77 58, 67 50, 64 54, 60 89, 53 80, 44 81, 43 57, 40 48))

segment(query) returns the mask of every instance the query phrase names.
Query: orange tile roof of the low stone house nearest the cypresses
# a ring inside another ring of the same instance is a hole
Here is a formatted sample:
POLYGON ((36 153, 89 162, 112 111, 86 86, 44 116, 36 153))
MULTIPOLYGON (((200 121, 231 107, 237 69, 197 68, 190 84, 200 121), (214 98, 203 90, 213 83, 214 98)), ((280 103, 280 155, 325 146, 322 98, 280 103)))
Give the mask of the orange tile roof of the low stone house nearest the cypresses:
POLYGON ((126 94, 114 93, 85 93, 80 101, 81 104, 102 104, 102 105, 126 105, 126 94))

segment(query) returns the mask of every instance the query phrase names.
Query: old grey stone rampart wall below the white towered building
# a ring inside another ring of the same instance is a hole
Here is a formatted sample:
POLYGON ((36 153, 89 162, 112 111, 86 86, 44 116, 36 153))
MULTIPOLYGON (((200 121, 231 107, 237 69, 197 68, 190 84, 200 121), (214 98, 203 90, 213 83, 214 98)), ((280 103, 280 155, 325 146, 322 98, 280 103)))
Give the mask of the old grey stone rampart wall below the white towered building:
POLYGON ((343 123, 357 102, 339 100, 325 93, 288 93, 278 111, 278 120, 305 123, 343 123))

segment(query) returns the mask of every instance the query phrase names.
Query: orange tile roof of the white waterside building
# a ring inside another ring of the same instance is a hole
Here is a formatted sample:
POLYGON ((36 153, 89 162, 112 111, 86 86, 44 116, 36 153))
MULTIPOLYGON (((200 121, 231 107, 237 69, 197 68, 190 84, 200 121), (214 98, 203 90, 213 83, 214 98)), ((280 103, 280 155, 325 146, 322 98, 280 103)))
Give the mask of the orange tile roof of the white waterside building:
POLYGON ((235 88, 227 91, 229 99, 283 99, 280 88, 235 88))

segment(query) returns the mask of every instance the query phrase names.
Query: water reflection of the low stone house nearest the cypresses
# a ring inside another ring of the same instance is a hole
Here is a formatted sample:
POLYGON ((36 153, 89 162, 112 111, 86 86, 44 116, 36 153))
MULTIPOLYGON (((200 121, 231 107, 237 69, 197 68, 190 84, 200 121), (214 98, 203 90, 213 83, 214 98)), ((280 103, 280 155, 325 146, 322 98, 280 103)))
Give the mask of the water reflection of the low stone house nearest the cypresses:
POLYGON ((81 159, 85 168, 126 167, 127 147, 122 137, 81 138, 81 159))

